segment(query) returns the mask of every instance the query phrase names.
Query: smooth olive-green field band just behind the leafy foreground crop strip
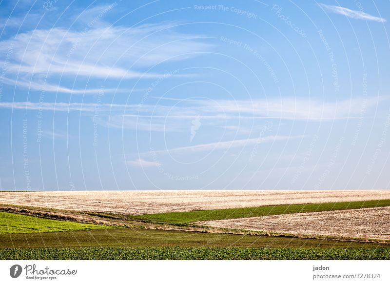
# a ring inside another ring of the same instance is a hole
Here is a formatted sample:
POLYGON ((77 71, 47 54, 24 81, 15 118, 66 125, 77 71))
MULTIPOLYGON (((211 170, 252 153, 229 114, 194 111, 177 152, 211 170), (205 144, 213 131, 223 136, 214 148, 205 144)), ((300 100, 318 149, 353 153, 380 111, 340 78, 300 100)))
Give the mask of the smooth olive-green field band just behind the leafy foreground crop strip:
POLYGON ((211 234, 174 230, 111 228, 55 233, 3 234, 0 248, 70 247, 70 246, 202 246, 202 247, 273 247, 273 248, 390 248, 386 243, 365 243, 276 236, 211 234))

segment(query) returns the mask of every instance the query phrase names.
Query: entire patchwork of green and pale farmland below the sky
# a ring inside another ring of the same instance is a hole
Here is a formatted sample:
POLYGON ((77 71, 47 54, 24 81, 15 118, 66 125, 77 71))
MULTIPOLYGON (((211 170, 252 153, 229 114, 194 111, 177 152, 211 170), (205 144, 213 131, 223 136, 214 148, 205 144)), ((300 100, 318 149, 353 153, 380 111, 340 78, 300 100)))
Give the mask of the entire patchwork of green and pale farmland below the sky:
POLYGON ((389 193, 0 192, 0 259, 390 259, 389 193))

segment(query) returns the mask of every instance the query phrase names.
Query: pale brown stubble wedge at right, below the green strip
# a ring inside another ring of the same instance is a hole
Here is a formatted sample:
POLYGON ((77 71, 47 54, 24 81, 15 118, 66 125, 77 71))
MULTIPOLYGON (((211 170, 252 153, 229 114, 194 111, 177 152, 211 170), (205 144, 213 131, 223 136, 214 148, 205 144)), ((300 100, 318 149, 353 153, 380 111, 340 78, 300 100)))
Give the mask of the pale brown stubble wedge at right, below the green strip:
POLYGON ((390 240, 390 207, 198 222, 230 229, 390 240))

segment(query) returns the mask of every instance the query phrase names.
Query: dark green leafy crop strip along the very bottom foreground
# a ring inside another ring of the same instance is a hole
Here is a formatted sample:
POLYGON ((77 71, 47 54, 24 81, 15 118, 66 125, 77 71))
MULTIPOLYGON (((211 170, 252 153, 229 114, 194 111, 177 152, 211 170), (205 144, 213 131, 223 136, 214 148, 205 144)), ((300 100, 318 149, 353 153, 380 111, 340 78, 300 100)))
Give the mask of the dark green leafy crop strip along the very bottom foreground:
POLYGON ((2 260, 388 260, 390 249, 64 247, 0 250, 2 260))

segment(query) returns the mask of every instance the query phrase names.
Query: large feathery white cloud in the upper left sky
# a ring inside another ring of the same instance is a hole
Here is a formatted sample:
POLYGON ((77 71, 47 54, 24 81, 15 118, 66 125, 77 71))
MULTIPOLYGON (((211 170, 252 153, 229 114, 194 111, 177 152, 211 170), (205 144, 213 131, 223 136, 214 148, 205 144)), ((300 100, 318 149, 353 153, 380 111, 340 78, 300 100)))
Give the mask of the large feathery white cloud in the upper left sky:
POLYGON ((158 78, 141 72, 162 61, 187 58, 210 44, 202 37, 174 31, 174 23, 137 27, 106 26, 72 31, 33 30, 0 42, 0 54, 12 46, 7 72, 29 75, 73 75, 95 78, 158 78))

